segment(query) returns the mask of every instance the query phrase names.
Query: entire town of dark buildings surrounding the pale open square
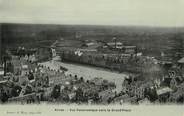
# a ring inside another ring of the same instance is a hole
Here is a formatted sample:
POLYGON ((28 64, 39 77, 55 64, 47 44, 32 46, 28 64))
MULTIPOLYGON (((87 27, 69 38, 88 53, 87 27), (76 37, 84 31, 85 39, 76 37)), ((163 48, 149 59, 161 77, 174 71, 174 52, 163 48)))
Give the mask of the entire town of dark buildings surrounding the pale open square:
POLYGON ((123 105, 184 102, 183 58, 177 63, 171 62, 168 67, 153 57, 138 53, 136 46, 123 46, 120 42, 86 42, 82 46, 59 47, 59 50, 57 46, 8 50, 9 58, 0 65, 1 103, 39 104, 46 101, 123 105), (65 73, 68 71, 65 67, 56 70, 40 64, 57 54, 62 61, 127 72, 121 91, 117 92, 116 83, 103 77, 86 80, 65 73))

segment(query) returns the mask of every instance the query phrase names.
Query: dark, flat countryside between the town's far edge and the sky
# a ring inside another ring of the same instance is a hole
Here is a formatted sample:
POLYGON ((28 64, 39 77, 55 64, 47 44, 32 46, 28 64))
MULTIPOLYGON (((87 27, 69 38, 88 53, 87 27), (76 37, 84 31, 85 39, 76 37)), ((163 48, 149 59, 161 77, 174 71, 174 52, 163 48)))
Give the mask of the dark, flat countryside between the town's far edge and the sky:
MULTIPOLYGON (((118 41, 125 45, 138 46, 139 51, 146 55, 159 57, 161 52, 172 51, 181 41, 175 40, 181 35, 184 41, 184 28, 152 28, 127 26, 81 26, 81 25, 40 25, 40 24, 1 24, 2 43, 5 47, 26 46, 28 48, 50 46, 62 37, 65 40, 76 40, 76 35, 82 35, 80 40, 118 41)), ((64 43, 65 44, 65 43, 64 43)), ((73 45, 77 46, 75 41, 73 45)), ((65 44, 67 46, 67 42, 65 44)), ((181 45, 181 49, 182 46, 181 45)), ((172 51, 172 52, 171 52, 172 51)))

